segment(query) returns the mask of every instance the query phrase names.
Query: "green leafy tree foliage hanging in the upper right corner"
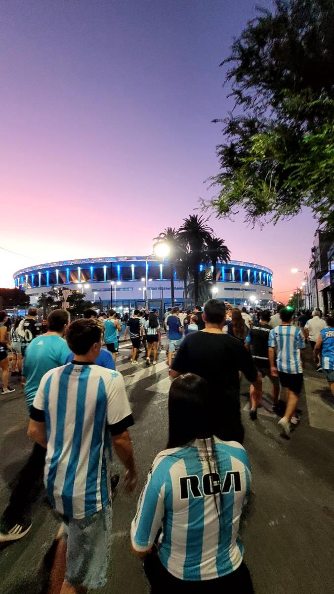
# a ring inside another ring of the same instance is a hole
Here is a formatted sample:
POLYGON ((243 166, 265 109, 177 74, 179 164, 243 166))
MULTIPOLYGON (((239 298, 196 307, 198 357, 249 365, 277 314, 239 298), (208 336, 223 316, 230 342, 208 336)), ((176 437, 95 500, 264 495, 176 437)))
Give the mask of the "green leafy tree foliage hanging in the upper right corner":
POLYGON ((258 9, 222 62, 235 106, 217 147, 218 216, 254 223, 303 206, 334 226, 334 3, 276 0, 258 9), (241 108, 241 113, 238 109, 241 108))

